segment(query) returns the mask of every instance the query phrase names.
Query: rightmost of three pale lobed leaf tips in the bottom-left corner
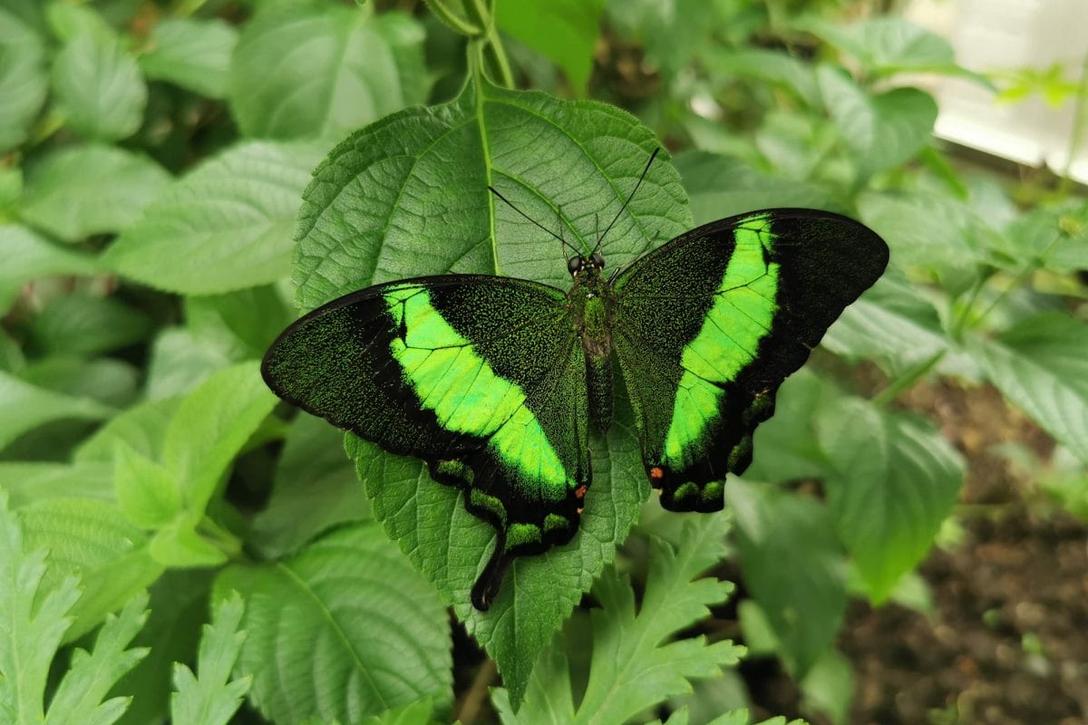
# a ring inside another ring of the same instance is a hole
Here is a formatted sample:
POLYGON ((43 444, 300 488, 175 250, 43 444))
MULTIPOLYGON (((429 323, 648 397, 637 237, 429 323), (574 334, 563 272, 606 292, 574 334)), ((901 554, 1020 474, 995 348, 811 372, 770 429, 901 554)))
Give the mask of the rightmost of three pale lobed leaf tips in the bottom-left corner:
POLYGON ((174 665, 174 688, 170 698, 172 725, 226 725, 242 704, 252 676, 227 682, 242 651, 246 633, 238 630, 245 603, 238 592, 215 607, 212 623, 205 625, 197 653, 197 672, 174 665))

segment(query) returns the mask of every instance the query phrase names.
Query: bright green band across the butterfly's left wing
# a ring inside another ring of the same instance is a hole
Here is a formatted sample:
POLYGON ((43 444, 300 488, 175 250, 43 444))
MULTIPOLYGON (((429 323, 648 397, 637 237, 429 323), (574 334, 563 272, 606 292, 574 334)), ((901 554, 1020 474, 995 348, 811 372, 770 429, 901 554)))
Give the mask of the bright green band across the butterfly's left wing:
POLYGON ((490 438, 489 448, 516 472, 516 480, 540 488, 544 500, 561 500, 574 482, 533 414, 521 388, 495 374, 431 304, 419 287, 386 292, 404 339, 390 346, 420 403, 456 433, 490 438))

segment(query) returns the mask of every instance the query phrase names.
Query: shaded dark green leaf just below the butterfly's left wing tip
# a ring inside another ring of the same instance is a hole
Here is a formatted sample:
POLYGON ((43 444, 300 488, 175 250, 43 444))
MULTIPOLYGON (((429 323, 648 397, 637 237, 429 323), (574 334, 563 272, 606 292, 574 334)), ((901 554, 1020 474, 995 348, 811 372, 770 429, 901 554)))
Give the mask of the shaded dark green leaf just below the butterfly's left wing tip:
POLYGON ((247 543, 265 557, 281 557, 335 524, 370 516, 370 500, 344 458, 344 434, 300 412, 284 440, 272 496, 254 516, 247 543))

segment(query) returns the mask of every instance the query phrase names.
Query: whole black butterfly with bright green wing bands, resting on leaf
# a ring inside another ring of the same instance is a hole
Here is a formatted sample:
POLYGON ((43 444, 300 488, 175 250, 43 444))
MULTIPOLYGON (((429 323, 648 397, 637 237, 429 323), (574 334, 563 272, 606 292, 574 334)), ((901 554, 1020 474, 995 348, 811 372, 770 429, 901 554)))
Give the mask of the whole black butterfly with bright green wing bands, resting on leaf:
POLYGON ((873 230, 807 209, 712 222, 608 276, 603 238, 568 255, 569 290, 468 274, 374 285, 299 318, 262 362, 284 400, 463 491, 497 534, 479 610, 515 558, 577 533, 613 358, 662 505, 719 511, 782 380, 888 262, 873 230))

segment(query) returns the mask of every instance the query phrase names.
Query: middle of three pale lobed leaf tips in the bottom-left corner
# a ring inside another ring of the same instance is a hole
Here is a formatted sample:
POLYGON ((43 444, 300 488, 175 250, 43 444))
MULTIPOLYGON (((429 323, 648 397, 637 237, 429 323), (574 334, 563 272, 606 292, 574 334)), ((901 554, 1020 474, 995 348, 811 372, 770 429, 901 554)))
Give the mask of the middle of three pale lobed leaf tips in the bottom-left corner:
POLYGON ((124 713, 129 698, 102 701, 110 688, 147 654, 126 649, 147 621, 147 595, 133 597, 116 616, 106 617, 88 653, 76 649, 60 687, 49 701, 45 725, 110 725, 124 713))

